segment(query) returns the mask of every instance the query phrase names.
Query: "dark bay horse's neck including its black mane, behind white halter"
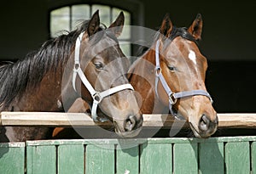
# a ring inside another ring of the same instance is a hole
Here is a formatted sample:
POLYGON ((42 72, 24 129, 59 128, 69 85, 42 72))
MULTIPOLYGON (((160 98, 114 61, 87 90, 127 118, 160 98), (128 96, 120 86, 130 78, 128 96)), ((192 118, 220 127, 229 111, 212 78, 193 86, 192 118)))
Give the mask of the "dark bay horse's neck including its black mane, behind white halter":
POLYGON ((0 91, 2 109, 50 111, 55 108, 61 96, 63 70, 68 59, 73 57, 69 55, 74 49, 73 38, 68 38, 61 36, 49 40, 25 59, 3 67, 0 71, 1 82, 5 85, 0 91), (12 80, 14 76, 17 81, 12 80))

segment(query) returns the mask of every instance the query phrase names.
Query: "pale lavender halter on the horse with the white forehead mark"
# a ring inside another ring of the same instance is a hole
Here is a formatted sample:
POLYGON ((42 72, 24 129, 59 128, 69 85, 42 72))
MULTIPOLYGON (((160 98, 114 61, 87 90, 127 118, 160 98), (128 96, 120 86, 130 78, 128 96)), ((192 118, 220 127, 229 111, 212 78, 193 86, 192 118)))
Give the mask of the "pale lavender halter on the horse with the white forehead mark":
POLYGON ((211 100, 211 102, 213 102, 210 94, 207 93, 207 91, 204 91, 201 89, 184 91, 184 92, 179 92, 179 93, 172 93, 171 88, 168 86, 166 79, 161 72, 160 58, 159 58, 159 54, 160 54, 159 47, 160 47, 160 42, 158 40, 156 42, 156 46, 155 46, 155 82, 154 82, 155 89, 154 89, 154 91, 156 93, 156 96, 159 97, 157 87, 158 87, 158 82, 160 81, 168 95, 169 109, 170 109, 171 114, 173 116, 175 116, 176 119, 183 120, 183 118, 181 116, 177 115, 177 113, 172 109, 172 106, 174 104, 176 104, 178 98, 186 98, 186 97, 191 97, 191 96, 195 96, 195 95, 203 95, 203 96, 207 96, 207 98, 209 98, 211 100))

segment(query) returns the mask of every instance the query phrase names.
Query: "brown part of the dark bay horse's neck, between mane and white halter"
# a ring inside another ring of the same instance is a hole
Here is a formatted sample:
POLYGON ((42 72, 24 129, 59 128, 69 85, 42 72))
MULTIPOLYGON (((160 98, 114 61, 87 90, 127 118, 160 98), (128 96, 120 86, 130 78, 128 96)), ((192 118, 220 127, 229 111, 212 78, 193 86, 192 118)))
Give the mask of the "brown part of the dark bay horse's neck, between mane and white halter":
MULTIPOLYGON (((73 49, 74 47, 72 50, 73 49)), ((71 53, 73 53, 73 51, 71 51, 71 53)), ((27 88, 26 93, 22 96, 20 101, 16 102, 18 106, 17 109, 29 111, 64 110, 61 95, 63 93, 64 95, 68 95, 68 93, 73 92, 72 77, 74 58, 73 54, 67 56, 68 58, 59 58, 58 63, 45 72, 42 81, 38 85, 27 88), (66 76, 64 76, 65 74, 66 76)), ((70 99, 74 101, 75 97, 70 99)))

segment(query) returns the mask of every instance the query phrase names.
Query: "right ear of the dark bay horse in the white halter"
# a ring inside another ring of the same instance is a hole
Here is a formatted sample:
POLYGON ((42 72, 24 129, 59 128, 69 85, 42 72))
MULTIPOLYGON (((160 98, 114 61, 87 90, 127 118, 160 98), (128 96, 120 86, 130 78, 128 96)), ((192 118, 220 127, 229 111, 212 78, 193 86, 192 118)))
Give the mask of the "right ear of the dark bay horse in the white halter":
POLYGON ((123 31, 123 26, 125 23, 125 15, 123 12, 120 12, 117 19, 108 27, 110 31, 113 31, 116 37, 120 36, 123 31))

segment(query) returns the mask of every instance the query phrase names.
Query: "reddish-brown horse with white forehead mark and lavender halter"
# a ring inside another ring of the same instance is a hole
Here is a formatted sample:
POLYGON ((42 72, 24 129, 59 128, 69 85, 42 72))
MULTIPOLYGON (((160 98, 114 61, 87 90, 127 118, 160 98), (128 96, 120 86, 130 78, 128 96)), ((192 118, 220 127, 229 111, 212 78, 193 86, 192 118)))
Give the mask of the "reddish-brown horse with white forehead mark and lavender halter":
POLYGON ((201 14, 188 29, 172 25, 166 14, 152 47, 131 66, 129 81, 141 95, 143 114, 170 110, 189 121, 195 137, 207 138, 216 132, 218 116, 205 86, 207 59, 197 44, 201 31, 201 14))

